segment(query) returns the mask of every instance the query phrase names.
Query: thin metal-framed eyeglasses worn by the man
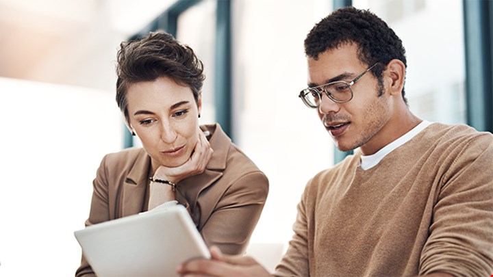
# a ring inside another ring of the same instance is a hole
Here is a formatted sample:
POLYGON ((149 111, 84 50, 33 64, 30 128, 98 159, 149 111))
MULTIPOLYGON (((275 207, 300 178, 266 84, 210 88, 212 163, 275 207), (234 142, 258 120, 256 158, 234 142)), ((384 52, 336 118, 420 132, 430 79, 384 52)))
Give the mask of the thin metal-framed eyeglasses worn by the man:
POLYGON ((324 92, 327 97, 331 98, 331 100, 336 103, 349 102, 351 101, 351 99, 353 99, 353 89, 351 88, 351 86, 354 85, 356 81, 359 80, 359 78, 363 77, 366 72, 370 71, 370 69, 372 69, 377 64, 378 62, 370 66, 362 74, 357 75, 357 77, 353 79, 353 81, 333 81, 330 83, 326 83, 325 85, 318 85, 313 88, 305 88, 304 90, 301 90, 298 97, 303 100, 303 103, 305 103, 307 107, 311 107, 314 109, 320 107, 320 103, 322 103, 322 92, 324 92), (319 88, 322 88, 321 92, 319 88))

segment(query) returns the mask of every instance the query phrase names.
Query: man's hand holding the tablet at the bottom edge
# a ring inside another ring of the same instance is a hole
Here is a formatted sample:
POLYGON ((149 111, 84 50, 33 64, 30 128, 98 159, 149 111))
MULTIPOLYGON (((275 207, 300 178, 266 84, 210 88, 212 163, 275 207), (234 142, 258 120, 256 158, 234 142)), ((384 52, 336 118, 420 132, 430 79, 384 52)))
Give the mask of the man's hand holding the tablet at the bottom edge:
POLYGON ((223 256, 219 248, 210 248, 212 259, 194 259, 181 264, 181 276, 270 276, 262 265, 249 256, 223 256))

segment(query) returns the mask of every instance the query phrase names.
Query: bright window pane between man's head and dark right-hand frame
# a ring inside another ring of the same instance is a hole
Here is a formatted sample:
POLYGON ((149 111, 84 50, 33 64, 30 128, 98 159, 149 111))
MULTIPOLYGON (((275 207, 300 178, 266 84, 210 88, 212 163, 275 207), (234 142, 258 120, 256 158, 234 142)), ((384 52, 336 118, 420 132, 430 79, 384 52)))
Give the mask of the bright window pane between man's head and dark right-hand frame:
POLYGON ((466 123, 462 1, 353 0, 403 40, 409 109, 424 120, 466 123), (437 20, 437 16, 440 20, 437 20))

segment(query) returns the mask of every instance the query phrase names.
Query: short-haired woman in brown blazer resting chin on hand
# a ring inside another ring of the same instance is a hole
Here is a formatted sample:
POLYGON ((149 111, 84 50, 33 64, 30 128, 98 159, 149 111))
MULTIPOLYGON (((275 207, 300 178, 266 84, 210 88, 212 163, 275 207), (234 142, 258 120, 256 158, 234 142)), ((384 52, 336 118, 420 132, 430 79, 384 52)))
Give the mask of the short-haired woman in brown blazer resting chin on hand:
MULTIPOLYGON (((268 180, 220 128, 199 127, 203 65, 164 32, 123 42, 116 101, 143 148, 106 155, 86 226, 177 201, 208 246, 240 254, 268 194, 268 180)), ((76 276, 93 274, 82 257, 76 276)))

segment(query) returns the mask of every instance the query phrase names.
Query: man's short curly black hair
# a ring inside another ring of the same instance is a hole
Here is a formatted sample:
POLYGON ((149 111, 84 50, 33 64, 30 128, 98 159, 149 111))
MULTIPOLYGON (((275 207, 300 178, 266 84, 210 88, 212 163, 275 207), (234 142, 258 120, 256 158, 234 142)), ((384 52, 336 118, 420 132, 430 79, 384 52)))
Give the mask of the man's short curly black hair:
MULTIPOLYGON (((369 10, 354 7, 340 8, 317 23, 305 38, 305 54, 314 60, 327 50, 342 44, 356 43, 359 60, 372 68, 379 85, 383 85, 382 72, 390 60, 401 60, 407 68, 405 49, 394 31, 369 10)), ((402 91, 405 98, 404 88, 402 91)))

